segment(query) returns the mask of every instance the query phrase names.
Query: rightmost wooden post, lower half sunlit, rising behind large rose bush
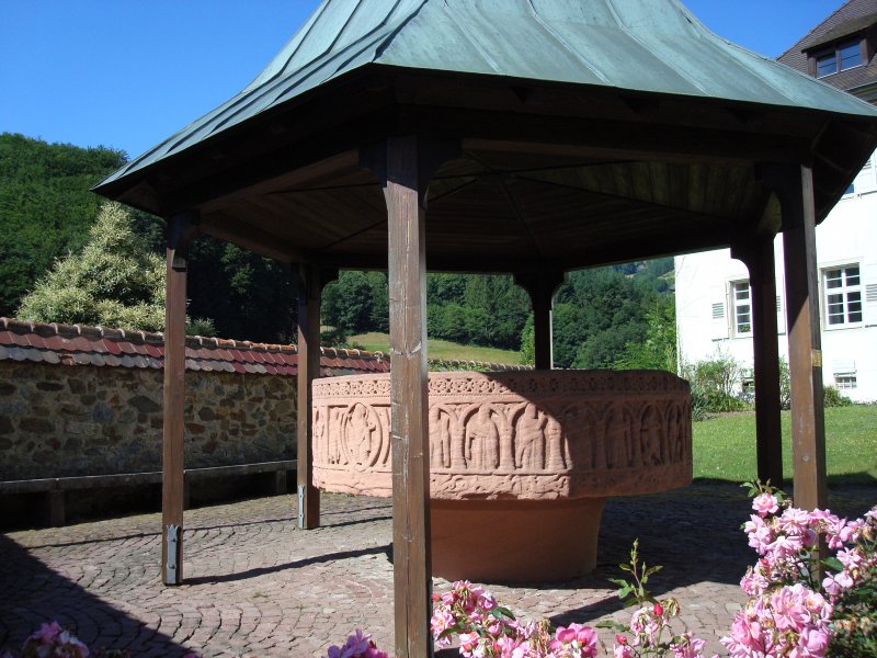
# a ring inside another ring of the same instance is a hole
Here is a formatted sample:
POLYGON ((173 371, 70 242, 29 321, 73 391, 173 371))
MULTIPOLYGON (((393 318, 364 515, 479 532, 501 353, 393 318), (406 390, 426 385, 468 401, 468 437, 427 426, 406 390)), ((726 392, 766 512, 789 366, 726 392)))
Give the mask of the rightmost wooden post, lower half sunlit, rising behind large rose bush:
POLYGON ((765 173, 783 213, 795 503, 806 510, 824 509, 825 422, 813 173, 809 166, 766 168, 765 173))

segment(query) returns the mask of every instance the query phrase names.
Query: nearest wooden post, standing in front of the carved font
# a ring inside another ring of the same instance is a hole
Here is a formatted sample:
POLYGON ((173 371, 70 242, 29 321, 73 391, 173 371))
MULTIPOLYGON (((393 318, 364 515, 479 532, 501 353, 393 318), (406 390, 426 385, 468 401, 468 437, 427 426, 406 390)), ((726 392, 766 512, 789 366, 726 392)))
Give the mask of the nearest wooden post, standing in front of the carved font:
POLYGON ((397 658, 432 656, 430 451, 426 381, 426 189, 458 145, 392 137, 363 149, 381 180, 388 216, 390 450, 397 658))

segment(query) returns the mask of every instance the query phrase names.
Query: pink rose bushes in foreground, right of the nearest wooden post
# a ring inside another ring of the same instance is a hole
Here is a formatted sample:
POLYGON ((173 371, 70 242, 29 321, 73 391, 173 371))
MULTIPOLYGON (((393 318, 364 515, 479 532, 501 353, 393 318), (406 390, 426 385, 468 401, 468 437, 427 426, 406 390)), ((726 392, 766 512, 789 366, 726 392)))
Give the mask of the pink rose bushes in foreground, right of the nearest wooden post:
MULTIPOLYGON (((877 656, 877 506, 863 519, 840 519, 828 510, 795 508, 782 491, 748 483, 753 514, 742 526, 759 554, 740 586, 750 597, 720 639, 732 658, 822 658, 877 656), (820 560, 820 544, 833 552, 820 560)), ((636 606, 630 622, 602 622, 616 631, 614 658, 659 656, 701 658, 705 640, 674 633, 679 602, 657 600, 646 590, 660 566, 640 564, 638 542, 628 579, 612 579, 622 599, 636 606)), ((434 595, 432 632, 436 647, 457 635, 459 653, 477 658, 568 658, 597 654, 593 628, 581 624, 551 629, 523 624, 482 588, 457 581, 434 595)))

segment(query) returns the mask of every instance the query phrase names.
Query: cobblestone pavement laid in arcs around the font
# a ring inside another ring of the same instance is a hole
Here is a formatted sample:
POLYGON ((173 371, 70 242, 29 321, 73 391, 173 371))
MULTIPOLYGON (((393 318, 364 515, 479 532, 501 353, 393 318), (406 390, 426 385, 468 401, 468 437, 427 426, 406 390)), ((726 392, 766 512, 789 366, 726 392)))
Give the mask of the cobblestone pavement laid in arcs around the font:
MULTIPOLYGON (((875 500, 877 486, 846 487, 830 507, 859 515, 875 500)), ((282 496, 187 511, 186 583, 175 588, 160 582, 158 514, 0 535, 0 647, 54 619, 89 646, 133 656, 324 656, 357 626, 390 650, 389 501, 323 495, 312 531, 296 529, 295 506, 282 496)), ((606 578, 639 537, 645 559, 664 565, 654 593, 676 597, 681 623, 719 650, 752 559, 739 531, 747 514, 744 491, 725 484, 613 499, 593 575, 489 589, 524 617, 623 619, 606 578)))

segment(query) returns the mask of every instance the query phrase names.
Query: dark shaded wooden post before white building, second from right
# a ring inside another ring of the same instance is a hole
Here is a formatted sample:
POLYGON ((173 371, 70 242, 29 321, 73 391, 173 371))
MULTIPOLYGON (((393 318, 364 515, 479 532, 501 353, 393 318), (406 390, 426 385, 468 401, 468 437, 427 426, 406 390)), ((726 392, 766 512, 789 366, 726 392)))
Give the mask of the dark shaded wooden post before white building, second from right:
POLYGON ((752 352, 755 370, 755 451, 759 479, 783 486, 779 404, 779 342, 776 324, 774 234, 756 235, 731 249, 749 268, 752 292, 752 352))

